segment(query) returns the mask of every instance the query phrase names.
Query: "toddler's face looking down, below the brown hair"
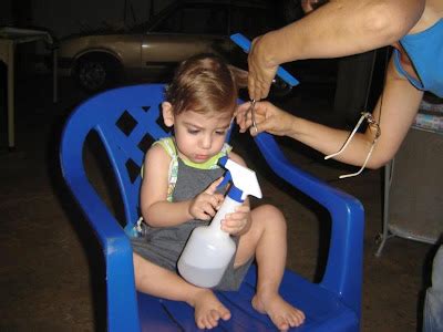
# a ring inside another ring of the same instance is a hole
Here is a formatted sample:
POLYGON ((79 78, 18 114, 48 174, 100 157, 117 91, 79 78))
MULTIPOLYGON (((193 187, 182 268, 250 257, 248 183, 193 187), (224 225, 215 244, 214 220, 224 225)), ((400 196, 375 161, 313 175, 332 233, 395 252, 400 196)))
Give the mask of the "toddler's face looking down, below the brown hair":
POLYGON ((200 114, 185 111, 175 115, 175 141, 181 157, 202 164, 218 154, 231 118, 231 112, 200 114))

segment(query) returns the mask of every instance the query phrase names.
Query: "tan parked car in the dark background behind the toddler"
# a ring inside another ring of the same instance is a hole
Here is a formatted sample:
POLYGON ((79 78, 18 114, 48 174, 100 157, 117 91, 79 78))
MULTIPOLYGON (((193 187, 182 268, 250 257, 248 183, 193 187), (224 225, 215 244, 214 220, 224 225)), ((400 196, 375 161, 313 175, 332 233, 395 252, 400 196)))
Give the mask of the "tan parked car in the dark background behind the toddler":
MULTIPOLYGON (((127 79, 167 81, 178 62, 200 52, 247 70, 247 55, 229 35, 241 32, 253 39, 284 25, 282 11, 270 2, 177 1, 130 29, 62 40, 60 71, 95 92, 127 79)), ((272 90, 284 94, 290 89, 277 81, 272 90)))

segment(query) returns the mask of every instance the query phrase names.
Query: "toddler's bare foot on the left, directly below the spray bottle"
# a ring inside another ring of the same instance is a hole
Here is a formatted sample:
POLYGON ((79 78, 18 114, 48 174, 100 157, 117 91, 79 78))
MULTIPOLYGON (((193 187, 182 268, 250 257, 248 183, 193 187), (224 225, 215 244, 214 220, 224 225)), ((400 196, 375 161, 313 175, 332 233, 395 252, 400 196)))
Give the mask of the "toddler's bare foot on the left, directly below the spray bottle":
POLYGON ((199 329, 213 329, 219 319, 230 319, 229 310, 208 289, 202 289, 189 304, 194 307, 195 323, 199 329))

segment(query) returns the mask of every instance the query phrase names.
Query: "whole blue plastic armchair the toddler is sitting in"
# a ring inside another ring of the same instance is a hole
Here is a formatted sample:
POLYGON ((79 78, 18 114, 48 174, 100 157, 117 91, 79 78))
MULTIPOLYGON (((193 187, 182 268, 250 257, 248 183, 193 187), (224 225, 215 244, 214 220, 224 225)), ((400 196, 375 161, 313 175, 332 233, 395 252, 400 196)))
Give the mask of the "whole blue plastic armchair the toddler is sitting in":
MULTIPOLYGON (((134 286, 127 234, 138 219, 141 178, 131 177, 127 165, 142 165, 144 152, 138 146, 146 135, 153 139, 166 135, 157 123, 163 89, 161 84, 146 84, 101 93, 76 107, 62 136, 63 176, 103 248, 109 331, 198 330, 189 305, 138 293, 134 286), (132 117, 131 133, 122 132, 117 125, 122 116, 132 117), (83 148, 91 132, 103 142, 115 173, 127 220, 126 232, 86 177, 83 148)), ((271 135, 260 134, 255 142, 278 176, 326 207, 331 215, 330 248, 321 282, 312 283, 289 270, 284 276, 280 293, 307 317, 305 324, 295 330, 359 331, 363 247, 361 204, 291 165, 271 135)), ((217 292, 233 317, 227 322, 222 321, 215 331, 275 330, 267 315, 257 313, 250 305, 255 284, 253 266, 238 292, 217 292)))

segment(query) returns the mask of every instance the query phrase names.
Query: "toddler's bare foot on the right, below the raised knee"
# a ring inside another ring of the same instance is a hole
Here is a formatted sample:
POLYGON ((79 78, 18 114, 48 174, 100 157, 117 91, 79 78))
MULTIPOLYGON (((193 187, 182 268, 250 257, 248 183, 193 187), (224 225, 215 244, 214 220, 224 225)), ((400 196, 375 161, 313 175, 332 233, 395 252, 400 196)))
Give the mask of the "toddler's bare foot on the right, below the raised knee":
POLYGON ((286 302, 278 293, 257 293, 253 298, 255 310, 269 315, 272 323, 280 331, 301 325, 305 322, 305 313, 286 302))

